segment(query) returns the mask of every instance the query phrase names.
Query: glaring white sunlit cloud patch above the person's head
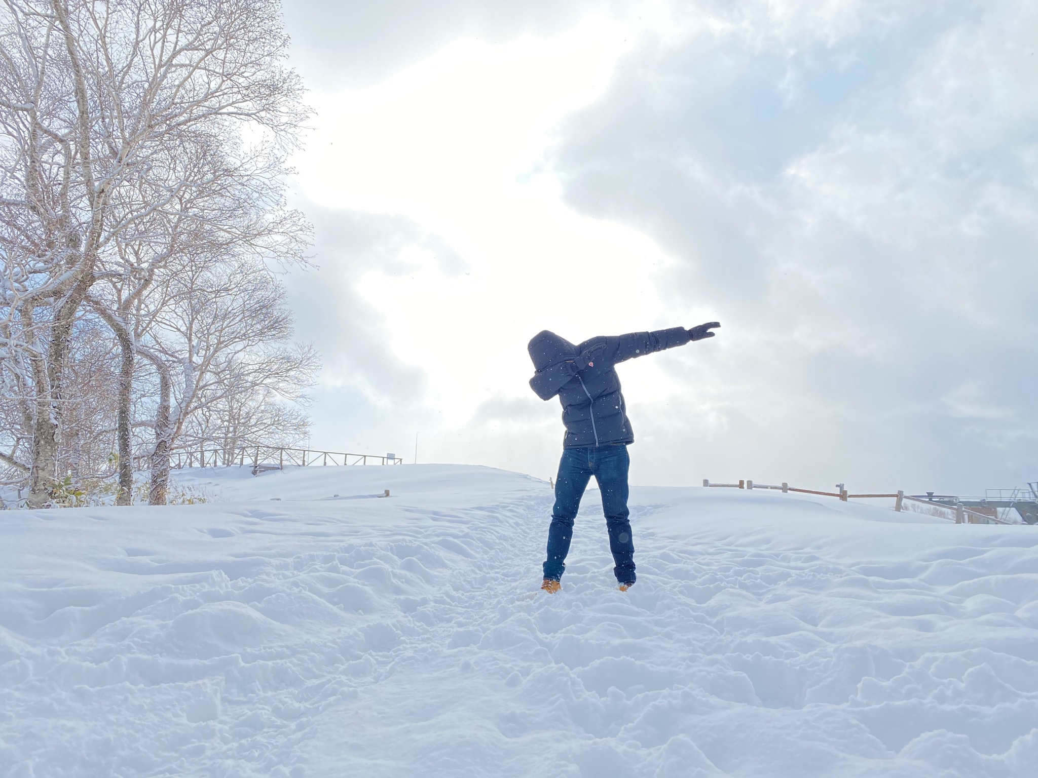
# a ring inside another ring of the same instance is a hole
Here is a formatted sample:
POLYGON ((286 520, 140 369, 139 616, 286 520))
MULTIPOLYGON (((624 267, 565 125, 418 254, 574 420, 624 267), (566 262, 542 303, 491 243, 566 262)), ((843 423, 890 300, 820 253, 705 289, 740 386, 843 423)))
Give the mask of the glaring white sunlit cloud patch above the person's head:
POLYGON ((404 247, 355 286, 448 424, 529 392, 525 343, 538 330, 579 340, 658 318, 667 258, 629 227, 574 213, 543 165, 559 119, 607 85, 626 32, 592 18, 552 38, 460 40, 375 86, 317 95, 301 192, 404 215, 457 252, 444 269, 434 249, 404 247))

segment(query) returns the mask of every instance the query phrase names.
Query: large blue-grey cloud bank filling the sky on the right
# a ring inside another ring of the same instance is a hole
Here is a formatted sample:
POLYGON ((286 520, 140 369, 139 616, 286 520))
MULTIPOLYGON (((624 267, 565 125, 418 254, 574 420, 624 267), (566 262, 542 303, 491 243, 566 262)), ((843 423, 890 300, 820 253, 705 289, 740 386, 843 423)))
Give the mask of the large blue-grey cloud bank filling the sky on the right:
POLYGON ((565 128, 568 200, 652 234, 680 259, 672 309, 725 323, 713 353, 667 362, 694 401, 634 417, 657 472, 693 440, 704 468, 823 483, 1038 473, 1038 19, 855 7, 812 27, 709 6, 727 27, 645 41, 565 128))

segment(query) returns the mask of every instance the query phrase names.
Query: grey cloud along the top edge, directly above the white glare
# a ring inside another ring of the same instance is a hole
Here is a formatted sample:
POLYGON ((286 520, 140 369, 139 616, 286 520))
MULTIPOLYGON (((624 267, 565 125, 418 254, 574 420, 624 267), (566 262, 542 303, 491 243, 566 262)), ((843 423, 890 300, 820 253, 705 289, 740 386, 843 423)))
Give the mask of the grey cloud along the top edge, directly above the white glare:
POLYGON ((323 89, 362 86, 459 37, 490 41, 564 30, 590 10, 622 0, 288 0, 292 58, 323 89))

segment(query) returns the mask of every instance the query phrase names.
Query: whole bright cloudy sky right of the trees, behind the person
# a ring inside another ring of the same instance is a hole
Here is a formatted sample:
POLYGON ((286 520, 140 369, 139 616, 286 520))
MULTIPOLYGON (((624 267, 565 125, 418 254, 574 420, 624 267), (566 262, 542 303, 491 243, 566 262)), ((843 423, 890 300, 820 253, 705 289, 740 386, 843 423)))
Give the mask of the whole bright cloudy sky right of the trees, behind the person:
POLYGON ((1038 479, 1038 4, 290 0, 318 448, 547 478, 542 329, 620 366, 634 483, 1038 479), (565 6, 561 10, 559 6, 565 6))

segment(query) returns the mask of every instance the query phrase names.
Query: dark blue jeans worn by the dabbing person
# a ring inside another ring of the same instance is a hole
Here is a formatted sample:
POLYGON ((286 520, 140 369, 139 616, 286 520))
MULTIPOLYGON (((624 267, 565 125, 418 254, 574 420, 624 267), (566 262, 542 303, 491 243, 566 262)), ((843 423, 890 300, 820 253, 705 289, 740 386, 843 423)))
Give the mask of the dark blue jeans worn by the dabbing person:
POLYGON ((567 448, 558 462, 555 481, 555 506, 548 527, 548 558, 544 577, 557 581, 566 569, 566 555, 573 537, 573 520, 580 508, 588 481, 594 475, 602 493, 602 512, 609 531, 609 550, 620 583, 634 583, 634 540, 627 517, 627 469, 631 460, 627 446, 589 446, 567 448))

